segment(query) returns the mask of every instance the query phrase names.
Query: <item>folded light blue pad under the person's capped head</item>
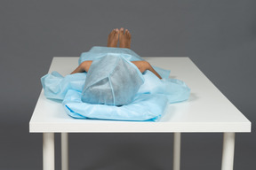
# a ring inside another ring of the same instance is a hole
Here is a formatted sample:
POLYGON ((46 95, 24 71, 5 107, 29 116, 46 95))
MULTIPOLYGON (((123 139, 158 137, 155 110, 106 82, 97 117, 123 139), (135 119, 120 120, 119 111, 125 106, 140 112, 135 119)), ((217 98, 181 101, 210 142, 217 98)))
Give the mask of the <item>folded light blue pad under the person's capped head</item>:
POLYGON ((68 115, 76 119, 156 121, 168 104, 167 97, 159 94, 141 94, 122 106, 84 103, 81 95, 69 89, 62 103, 68 115))

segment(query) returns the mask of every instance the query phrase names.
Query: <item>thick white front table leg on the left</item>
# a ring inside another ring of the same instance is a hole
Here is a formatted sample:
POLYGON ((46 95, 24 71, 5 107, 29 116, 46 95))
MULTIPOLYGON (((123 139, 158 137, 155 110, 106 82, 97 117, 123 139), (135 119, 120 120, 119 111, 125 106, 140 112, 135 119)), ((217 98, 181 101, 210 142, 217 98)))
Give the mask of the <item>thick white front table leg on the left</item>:
POLYGON ((54 170, 54 133, 43 134, 43 168, 54 170))

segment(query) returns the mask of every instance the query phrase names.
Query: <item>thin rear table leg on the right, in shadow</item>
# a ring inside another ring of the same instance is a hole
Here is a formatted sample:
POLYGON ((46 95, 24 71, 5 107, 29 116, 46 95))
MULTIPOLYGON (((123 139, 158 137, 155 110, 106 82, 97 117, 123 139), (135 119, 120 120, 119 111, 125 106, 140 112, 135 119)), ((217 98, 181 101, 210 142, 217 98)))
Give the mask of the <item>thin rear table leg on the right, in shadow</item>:
POLYGON ((174 133, 173 142, 173 170, 180 170, 180 133, 174 133))

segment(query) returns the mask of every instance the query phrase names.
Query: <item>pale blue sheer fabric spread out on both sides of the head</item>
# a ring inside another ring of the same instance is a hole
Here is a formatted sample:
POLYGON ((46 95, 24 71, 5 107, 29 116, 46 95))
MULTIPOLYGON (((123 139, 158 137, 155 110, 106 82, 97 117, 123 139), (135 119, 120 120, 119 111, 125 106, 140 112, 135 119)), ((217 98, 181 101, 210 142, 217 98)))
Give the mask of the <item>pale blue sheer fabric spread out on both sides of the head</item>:
MULTIPOLYGON (((158 79, 150 71, 142 74, 144 83, 140 86, 137 94, 163 94, 170 104, 187 100, 190 94, 188 86, 177 79, 158 79)), ((41 78, 44 96, 49 99, 63 100, 68 89, 78 92, 83 91, 86 73, 74 73, 63 77, 58 72, 52 72, 41 78)))

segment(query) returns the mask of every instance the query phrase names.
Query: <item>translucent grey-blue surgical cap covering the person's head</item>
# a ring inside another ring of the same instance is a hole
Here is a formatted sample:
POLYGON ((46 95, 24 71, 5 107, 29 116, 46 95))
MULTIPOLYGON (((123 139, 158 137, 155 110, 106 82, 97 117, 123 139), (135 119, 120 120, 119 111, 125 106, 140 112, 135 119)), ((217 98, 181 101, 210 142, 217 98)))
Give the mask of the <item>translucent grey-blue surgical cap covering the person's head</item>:
POLYGON ((132 103, 144 78, 137 66, 118 53, 94 59, 87 73, 82 101, 88 104, 132 103))

